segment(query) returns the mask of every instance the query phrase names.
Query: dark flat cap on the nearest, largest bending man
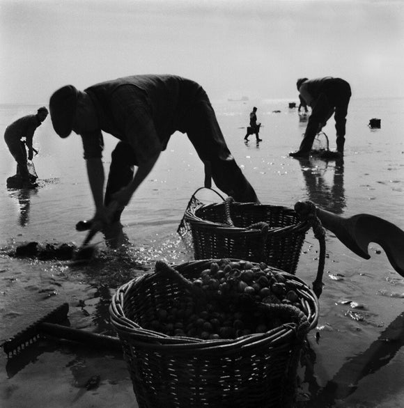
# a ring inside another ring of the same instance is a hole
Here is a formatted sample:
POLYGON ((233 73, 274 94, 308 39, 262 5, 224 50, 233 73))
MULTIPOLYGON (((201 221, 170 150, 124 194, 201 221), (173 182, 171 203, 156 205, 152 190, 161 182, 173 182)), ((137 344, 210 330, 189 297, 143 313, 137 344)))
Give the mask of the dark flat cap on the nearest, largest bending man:
POLYGON ((63 138, 68 137, 72 132, 78 95, 79 91, 74 86, 66 85, 50 97, 49 111, 52 125, 55 132, 63 138))

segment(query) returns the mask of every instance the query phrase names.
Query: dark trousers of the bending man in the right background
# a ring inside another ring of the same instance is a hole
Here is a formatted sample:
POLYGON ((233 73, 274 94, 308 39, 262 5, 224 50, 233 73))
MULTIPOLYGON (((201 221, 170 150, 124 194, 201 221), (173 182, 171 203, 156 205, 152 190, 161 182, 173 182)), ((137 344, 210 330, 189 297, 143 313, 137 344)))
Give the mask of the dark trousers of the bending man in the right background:
POLYGON ((321 128, 325 126, 327 120, 334 113, 336 149, 339 152, 343 152, 346 115, 351 95, 350 85, 343 79, 332 79, 325 84, 316 100, 316 104, 312 108, 299 150, 309 152, 311 146, 313 146, 316 134, 320 132, 321 128))

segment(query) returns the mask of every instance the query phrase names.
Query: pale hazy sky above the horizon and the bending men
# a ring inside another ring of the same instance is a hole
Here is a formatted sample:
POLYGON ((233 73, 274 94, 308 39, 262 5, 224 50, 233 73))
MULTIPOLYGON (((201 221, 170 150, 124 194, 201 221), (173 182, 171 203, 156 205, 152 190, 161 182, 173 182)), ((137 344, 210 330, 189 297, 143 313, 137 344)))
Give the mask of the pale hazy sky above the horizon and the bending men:
POLYGON ((132 74, 178 74, 212 100, 296 97, 341 77, 404 96, 404 0, 0 0, 0 103, 44 103, 132 74))

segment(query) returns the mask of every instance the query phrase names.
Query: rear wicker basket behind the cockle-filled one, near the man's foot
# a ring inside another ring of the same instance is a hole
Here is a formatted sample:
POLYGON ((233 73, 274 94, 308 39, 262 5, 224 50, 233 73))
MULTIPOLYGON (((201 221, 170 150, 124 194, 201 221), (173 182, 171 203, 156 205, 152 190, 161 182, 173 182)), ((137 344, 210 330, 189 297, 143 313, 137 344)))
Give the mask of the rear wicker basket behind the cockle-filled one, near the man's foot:
POLYGON ((231 201, 188 207, 184 221, 192 234, 196 260, 240 258, 265 262, 290 274, 296 272, 311 227, 288 207, 231 201))

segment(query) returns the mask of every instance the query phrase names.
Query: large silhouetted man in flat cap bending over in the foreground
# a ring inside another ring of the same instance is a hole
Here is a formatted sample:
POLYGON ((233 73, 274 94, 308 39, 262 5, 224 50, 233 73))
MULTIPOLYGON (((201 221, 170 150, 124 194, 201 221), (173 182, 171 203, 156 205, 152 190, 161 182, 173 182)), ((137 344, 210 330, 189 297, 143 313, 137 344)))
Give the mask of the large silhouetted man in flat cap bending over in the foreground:
POLYGON ((81 136, 95 216, 104 226, 121 212, 166 149, 171 134, 187 133, 219 189, 235 201, 257 202, 256 193, 226 146, 203 88, 174 75, 134 75, 77 91, 63 86, 49 102, 54 130, 81 136), (119 139, 112 152, 104 194, 102 131, 119 139), (134 173, 134 166, 137 171, 134 173), (111 214, 112 201, 118 210, 111 214))

